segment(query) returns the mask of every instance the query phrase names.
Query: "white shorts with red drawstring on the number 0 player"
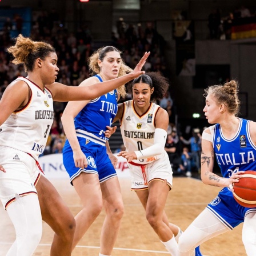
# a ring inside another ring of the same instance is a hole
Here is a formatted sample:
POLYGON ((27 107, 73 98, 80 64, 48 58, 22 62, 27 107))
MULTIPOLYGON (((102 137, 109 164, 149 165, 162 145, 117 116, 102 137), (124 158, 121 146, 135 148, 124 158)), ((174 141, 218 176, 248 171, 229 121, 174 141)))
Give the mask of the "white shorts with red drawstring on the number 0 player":
POLYGON ((155 179, 167 181, 170 188, 173 186, 173 170, 171 169, 170 160, 167 154, 164 157, 147 163, 145 172, 142 166, 128 163, 131 174, 131 190, 147 189, 149 183, 155 179))

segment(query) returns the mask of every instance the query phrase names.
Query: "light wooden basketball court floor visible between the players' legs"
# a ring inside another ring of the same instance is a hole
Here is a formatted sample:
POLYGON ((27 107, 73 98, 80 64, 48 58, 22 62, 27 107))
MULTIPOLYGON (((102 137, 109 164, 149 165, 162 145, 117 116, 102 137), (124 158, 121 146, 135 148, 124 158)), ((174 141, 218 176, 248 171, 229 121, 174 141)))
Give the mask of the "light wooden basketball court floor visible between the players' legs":
MULTIPOLYGON (((62 198, 75 215, 81 210, 81 202, 70 185, 69 179, 50 179, 62 198)), ((122 188, 125 215, 112 256, 164 256, 169 255, 151 229, 145 218, 145 212, 134 191, 130 190, 130 179, 119 178, 122 188)), ((220 189, 204 185, 201 180, 186 177, 174 177, 173 190, 170 191, 166 203, 169 221, 180 226, 182 230, 193 221, 220 189)), ((98 216, 73 251, 73 256, 98 256, 99 236, 105 213, 98 216)), ((213 238, 201 245, 201 252, 208 256, 245 256, 242 244, 242 225, 213 238)), ((3 207, 0 208, 0 256, 6 255, 15 239, 15 231, 3 207)), ((34 253, 38 256, 49 256, 53 231, 43 223, 41 242, 34 253)))

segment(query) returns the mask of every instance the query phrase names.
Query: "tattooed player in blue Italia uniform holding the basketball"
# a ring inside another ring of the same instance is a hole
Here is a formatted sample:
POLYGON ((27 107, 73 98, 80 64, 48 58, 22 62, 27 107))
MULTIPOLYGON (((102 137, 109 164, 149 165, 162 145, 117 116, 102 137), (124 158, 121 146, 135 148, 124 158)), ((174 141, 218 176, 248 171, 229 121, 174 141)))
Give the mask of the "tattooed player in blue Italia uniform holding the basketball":
POLYGON ((237 178, 244 171, 256 171, 256 123, 237 117, 237 88, 237 82, 231 80, 224 86, 214 85, 205 90, 203 111, 209 123, 217 124, 202 134, 201 178, 203 183, 223 189, 182 234, 179 256, 190 256, 195 246, 233 230, 242 222, 246 254, 256 255, 256 208, 239 205, 232 193, 232 184, 239 182, 237 178), (213 173, 214 157, 222 177, 213 173))

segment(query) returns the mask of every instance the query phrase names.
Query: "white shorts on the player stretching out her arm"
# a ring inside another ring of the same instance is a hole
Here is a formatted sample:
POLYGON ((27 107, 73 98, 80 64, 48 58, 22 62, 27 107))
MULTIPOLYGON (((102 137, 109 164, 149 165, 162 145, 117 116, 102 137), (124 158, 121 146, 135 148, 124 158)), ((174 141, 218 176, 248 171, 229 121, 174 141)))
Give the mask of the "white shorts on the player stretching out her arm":
POLYGON ((0 146, 0 165, 6 170, 6 173, 0 171, 0 199, 5 209, 15 201, 15 194, 37 194, 35 185, 41 174, 33 157, 12 147, 0 146))

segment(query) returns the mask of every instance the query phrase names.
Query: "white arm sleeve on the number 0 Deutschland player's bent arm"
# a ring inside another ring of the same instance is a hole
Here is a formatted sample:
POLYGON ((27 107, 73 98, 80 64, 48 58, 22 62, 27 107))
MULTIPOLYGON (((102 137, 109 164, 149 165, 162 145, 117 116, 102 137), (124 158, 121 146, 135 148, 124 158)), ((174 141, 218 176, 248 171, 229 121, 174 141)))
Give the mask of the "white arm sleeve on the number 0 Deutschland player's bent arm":
POLYGON ((135 151, 137 159, 144 159, 148 157, 154 157, 155 155, 161 155, 165 152, 165 143, 167 138, 166 130, 161 128, 155 129, 154 144, 147 149, 135 151))

